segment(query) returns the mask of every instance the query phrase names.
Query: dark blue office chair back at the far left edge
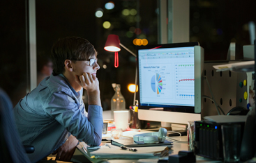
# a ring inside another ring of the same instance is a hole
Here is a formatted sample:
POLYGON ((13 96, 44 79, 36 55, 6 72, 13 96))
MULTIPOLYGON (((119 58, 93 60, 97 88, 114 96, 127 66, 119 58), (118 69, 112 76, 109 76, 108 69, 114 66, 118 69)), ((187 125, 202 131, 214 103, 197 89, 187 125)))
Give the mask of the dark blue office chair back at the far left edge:
MULTIPOLYGON (((33 153, 33 146, 27 146, 33 153)), ((30 162, 22 146, 20 135, 15 126, 13 105, 10 98, 0 88, 0 162, 30 162)))

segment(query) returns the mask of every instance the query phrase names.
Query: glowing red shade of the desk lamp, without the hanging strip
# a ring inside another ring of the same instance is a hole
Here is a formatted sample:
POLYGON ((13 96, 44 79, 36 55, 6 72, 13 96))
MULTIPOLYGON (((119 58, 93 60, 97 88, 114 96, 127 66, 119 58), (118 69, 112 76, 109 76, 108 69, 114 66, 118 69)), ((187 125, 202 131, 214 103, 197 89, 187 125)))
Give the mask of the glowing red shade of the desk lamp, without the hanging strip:
POLYGON ((116 52, 116 51, 120 51, 120 40, 118 35, 108 35, 107 37, 107 42, 105 44, 104 49, 106 51, 112 51, 112 52, 116 52))

